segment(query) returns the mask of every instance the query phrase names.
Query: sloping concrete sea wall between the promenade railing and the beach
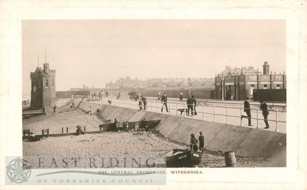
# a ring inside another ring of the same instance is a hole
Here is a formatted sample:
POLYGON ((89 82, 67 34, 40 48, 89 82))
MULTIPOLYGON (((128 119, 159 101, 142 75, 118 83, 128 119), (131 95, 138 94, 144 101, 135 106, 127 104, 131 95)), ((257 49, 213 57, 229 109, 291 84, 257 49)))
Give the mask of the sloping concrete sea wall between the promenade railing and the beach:
MULTIPOLYGON (((74 100, 74 103, 78 105, 80 100, 74 100)), ((97 103, 83 101, 79 108, 88 111, 89 106, 95 111, 97 103)), ((100 107, 100 104, 98 106, 100 107)), ((143 118, 161 120, 155 130, 163 134, 165 138, 185 144, 190 143, 190 134, 195 134, 198 138, 199 132, 202 131, 205 137, 205 148, 212 151, 234 150, 235 155, 241 157, 286 157, 286 134, 284 133, 104 104, 100 116, 111 121, 117 118, 120 122, 125 120, 135 122, 143 118)))

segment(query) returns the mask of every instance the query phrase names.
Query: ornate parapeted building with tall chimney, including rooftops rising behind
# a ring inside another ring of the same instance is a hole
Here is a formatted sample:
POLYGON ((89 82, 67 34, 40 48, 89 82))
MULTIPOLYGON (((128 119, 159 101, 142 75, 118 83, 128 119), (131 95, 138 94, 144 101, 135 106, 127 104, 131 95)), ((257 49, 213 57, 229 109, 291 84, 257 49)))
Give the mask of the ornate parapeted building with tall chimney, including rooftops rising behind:
POLYGON ((234 100, 245 100, 253 97, 254 89, 286 89, 286 74, 270 72, 267 61, 263 65, 263 74, 254 67, 231 69, 226 66, 226 70, 215 77, 216 99, 222 99, 221 86, 224 97, 230 93, 234 100))

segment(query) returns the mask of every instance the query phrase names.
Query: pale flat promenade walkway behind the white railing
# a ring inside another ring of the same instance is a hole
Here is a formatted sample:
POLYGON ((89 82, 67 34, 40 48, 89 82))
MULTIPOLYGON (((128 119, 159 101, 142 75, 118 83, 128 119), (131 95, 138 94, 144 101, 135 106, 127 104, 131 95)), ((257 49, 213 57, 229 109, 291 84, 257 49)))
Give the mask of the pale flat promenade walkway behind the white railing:
MULTIPOLYGON (((244 101, 224 101, 222 103, 221 100, 212 100, 209 99, 196 99, 197 103, 200 103, 196 106, 197 115, 189 116, 185 114, 185 112, 180 115, 180 111, 178 109, 187 108, 186 99, 180 102, 179 99, 176 98, 168 98, 168 111, 166 112, 165 107, 163 108, 163 112, 161 112, 162 103, 161 101, 157 101, 156 97, 146 97, 147 98, 147 106, 146 111, 163 113, 169 115, 177 115, 179 117, 188 117, 194 119, 200 119, 205 121, 212 121, 218 123, 226 123, 237 126, 244 126, 249 128, 259 128, 259 130, 267 130, 267 131, 278 131, 280 133, 286 133, 286 111, 282 111, 281 107, 273 107, 273 111, 271 110, 268 115, 268 122, 270 125, 269 129, 264 129, 265 123, 263 121, 262 111, 260 109, 257 110, 257 107, 260 106, 260 103, 251 101, 251 123, 253 126, 248 126, 247 118, 242 119, 241 123, 241 115, 246 115, 243 111, 243 102, 244 101), (206 104, 205 104, 206 103, 206 104), (242 107, 241 107, 242 106, 242 107), (276 108, 278 109, 276 114, 276 108), (258 113, 257 113, 258 112, 258 113), (258 120, 257 120, 258 115, 258 120)), ((80 99, 80 98, 78 98, 80 99)), ((113 106, 126 107, 130 109, 138 110, 138 101, 130 100, 129 97, 122 97, 122 99, 116 99, 116 97, 108 97, 103 98, 101 101, 94 99, 94 102, 97 104, 108 104, 107 100, 111 100, 113 106)), ((267 103, 268 106, 272 105, 272 103, 267 103)), ((274 106, 285 106, 284 103, 274 103, 274 106)))

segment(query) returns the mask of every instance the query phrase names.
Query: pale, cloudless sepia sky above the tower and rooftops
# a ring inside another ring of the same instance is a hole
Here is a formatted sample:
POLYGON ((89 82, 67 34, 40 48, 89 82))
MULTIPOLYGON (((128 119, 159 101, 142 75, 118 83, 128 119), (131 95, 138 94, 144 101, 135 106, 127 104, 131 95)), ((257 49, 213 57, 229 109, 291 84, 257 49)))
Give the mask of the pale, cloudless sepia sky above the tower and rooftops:
POLYGON ((262 72, 265 61, 286 72, 286 20, 23 20, 21 29, 23 95, 45 59, 56 91, 126 76, 214 78, 228 65, 262 72))

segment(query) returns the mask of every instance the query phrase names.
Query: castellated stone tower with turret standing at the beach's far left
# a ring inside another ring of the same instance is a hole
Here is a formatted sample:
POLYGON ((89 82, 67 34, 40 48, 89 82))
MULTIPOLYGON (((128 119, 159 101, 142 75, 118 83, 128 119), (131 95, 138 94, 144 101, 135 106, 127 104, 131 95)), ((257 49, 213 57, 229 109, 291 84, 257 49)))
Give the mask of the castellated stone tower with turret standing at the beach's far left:
POLYGON ((44 70, 37 67, 30 73, 30 79, 31 108, 52 107, 56 100, 56 70, 50 70, 49 63, 44 63, 44 70))

